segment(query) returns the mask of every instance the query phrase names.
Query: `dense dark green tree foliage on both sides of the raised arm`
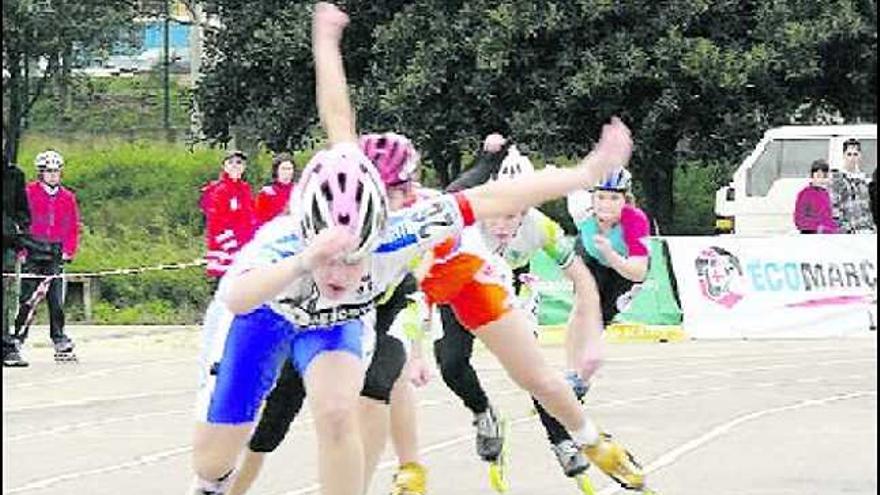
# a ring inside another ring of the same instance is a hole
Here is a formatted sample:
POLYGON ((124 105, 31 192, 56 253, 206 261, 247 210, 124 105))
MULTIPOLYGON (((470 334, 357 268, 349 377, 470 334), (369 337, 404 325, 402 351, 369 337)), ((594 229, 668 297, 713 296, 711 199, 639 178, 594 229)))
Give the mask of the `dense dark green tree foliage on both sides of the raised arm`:
MULTIPOLYGON (((820 111, 876 119, 875 2, 414 0, 343 2, 362 129, 404 132, 444 183, 500 130, 545 156, 632 127, 636 177, 661 224, 680 161, 731 163, 769 126, 820 111)), ((313 134, 310 2, 208 2, 204 128, 270 147, 313 134)))

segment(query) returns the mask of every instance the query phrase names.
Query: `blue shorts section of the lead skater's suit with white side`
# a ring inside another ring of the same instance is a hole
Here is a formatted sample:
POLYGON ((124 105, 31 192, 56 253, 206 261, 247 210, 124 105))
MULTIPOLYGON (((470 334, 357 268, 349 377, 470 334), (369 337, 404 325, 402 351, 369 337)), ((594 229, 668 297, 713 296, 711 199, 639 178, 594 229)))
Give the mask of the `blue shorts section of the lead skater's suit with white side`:
MULTIPOLYGON (((202 366, 197 416, 213 424, 250 423, 275 385, 284 359, 301 375, 323 352, 364 353, 364 324, 352 320, 300 331, 283 316, 262 306, 248 314, 221 319, 227 331, 216 337, 202 366), (222 339, 222 345, 219 340, 222 339)), ((206 333, 208 329, 206 329, 206 333)), ((209 344, 210 347, 210 344, 209 344)))

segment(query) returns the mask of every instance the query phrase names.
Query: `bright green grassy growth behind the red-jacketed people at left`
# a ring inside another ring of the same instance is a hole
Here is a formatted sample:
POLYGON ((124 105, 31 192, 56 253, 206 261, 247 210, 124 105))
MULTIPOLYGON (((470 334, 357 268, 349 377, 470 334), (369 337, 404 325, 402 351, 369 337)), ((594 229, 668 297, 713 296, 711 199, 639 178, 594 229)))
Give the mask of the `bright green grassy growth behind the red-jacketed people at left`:
MULTIPOLYGON (((217 177, 223 152, 120 139, 61 141, 30 135, 22 163, 54 148, 65 157, 64 184, 77 194, 83 228, 68 272, 188 263, 204 252, 201 186, 217 177)), ((268 156, 248 167, 263 182, 268 156)), ((23 169, 33 178, 33 167, 23 169)), ((254 180, 256 179, 256 180, 254 180)), ((102 277, 93 317, 100 323, 196 323, 211 297, 203 267, 102 277)), ((75 321, 76 314, 71 314, 75 321)), ((42 317, 40 318, 41 321, 42 317)))

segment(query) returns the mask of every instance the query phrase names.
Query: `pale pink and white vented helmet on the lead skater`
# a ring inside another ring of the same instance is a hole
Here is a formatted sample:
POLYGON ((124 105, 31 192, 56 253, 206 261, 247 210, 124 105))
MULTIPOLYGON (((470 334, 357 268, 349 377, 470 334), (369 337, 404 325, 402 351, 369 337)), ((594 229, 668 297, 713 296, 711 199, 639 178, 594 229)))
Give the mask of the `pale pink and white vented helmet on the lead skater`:
POLYGON ((306 242, 331 226, 349 228, 358 239, 349 259, 373 250, 388 217, 382 179, 354 145, 337 145, 315 154, 290 201, 306 242))

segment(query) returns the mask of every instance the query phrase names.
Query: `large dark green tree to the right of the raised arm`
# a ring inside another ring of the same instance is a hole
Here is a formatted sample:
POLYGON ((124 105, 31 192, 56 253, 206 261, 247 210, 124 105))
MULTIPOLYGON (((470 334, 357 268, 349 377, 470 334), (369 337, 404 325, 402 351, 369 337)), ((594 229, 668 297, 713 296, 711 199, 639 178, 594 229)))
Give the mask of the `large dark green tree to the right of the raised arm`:
POLYGON ((636 137, 648 210, 668 224, 683 158, 731 162, 805 104, 876 117, 874 10, 849 1, 415 2, 375 30, 361 117, 422 138, 444 177, 455 156, 434 152, 432 139, 457 155, 497 128, 545 156, 574 155, 619 114, 636 137))

